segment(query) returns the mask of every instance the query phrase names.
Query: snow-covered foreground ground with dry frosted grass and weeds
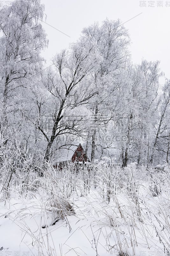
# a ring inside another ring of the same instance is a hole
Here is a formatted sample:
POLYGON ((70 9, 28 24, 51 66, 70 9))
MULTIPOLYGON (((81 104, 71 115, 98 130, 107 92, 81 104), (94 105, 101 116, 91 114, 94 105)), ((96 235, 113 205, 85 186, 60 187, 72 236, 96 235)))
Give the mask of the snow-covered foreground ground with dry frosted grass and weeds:
POLYGON ((2 198, 0 255, 169 255, 167 173, 154 183, 132 167, 109 170, 60 173, 37 191, 2 198))

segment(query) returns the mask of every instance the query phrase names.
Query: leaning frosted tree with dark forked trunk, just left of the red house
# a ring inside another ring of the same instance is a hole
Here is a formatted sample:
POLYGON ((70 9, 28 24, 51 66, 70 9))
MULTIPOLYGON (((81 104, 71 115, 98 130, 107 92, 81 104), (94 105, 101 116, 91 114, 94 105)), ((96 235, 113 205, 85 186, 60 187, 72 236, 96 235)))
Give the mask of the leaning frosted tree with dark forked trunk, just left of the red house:
POLYGON ((54 143, 64 134, 78 135, 82 129, 82 116, 86 116, 85 104, 96 94, 88 81, 94 65, 93 47, 82 42, 73 44, 69 51, 63 50, 53 58, 55 70, 49 69, 42 84, 46 92, 41 101, 34 100, 39 117, 36 128, 46 139, 44 160, 48 162, 54 143), (50 121, 49 121, 50 120, 50 121), (46 127, 48 126, 48 132, 46 127))

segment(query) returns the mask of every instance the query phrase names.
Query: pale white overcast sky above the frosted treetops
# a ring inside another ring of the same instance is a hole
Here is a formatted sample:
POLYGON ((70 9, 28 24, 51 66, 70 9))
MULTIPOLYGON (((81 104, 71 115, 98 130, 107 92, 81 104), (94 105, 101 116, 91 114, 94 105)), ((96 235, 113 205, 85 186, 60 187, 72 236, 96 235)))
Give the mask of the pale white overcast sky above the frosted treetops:
POLYGON ((170 78, 170 2, 166 3, 168 1, 152 1, 155 7, 148 7, 151 1, 145 1, 146 7, 140 7, 138 0, 42 0, 41 3, 45 4, 46 23, 70 36, 43 22, 49 46, 42 54, 49 63, 56 52, 68 48, 69 43, 78 39, 83 27, 95 21, 101 23, 106 18, 120 19, 123 23, 127 21, 124 26, 129 30, 131 37, 130 51, 133 62, 139 63, 142 58, 160 60, 160 68, 165 72, 165 76, 170 78), (159 4, 163 4, 163 7, 157 7, 159 4), (135 17, 136 15, 138 16, 135 17))

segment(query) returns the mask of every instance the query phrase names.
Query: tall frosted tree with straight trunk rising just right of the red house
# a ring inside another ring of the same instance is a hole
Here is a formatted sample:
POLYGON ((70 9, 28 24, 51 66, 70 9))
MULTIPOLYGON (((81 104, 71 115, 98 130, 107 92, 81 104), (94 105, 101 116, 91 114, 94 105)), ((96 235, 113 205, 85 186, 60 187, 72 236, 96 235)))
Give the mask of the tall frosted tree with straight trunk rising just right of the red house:
POLYGON ((121 69, 125 68, 129 57, 127 50, 129 36, 119 20, 105 20, 101 27, 94 24, 84 28, 82 33, 84 42, 94 47, 98 59, 91 75, 92 83, 97 89, 97 94, 91 102, 91 110, 94 115, 91 141, 91 161, 93 161, 95 158, 96 129, 101 122, 98 116, 99 113, 101 116, 104 112, 109 121, 114 115, 114 111, 112 111, 115 108, 113 102, 117 102, 117 100, 113 95, 119 86, 117 79, 121 76, 121 69), (112 99, 112 102, 109 99, 112 99), (113 106, 111 107, 111 105, 113 106))

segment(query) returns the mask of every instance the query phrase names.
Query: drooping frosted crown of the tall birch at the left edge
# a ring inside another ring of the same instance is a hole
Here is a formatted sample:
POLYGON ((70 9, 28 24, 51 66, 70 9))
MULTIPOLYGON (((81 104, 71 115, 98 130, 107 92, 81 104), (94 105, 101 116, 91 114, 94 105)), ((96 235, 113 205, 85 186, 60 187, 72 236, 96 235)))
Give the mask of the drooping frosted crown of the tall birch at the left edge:
POLYGON ((26 87, 42 65, 40 52, 47 46, 45 31, 39 23, 43 12, 39 0, 16 0, 0 10, 1 99, 5 115, 11 97, 26 87))

